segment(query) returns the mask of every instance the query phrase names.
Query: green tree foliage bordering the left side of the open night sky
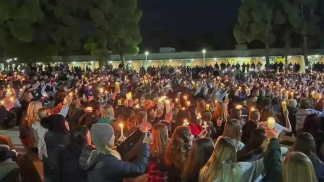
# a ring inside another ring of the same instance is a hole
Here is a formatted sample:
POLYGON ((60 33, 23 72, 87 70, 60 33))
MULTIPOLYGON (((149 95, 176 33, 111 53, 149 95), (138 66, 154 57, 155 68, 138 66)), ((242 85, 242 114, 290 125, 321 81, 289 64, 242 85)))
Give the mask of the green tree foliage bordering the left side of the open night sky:
POLYGON ((93 38, 97 43, 107 42, 113 53, 121 55, 137 54, 141 43, 138 22, 142 11, 137 7, 137 1, 94 1, 89 10, 89 16, 96 28, 93 38))

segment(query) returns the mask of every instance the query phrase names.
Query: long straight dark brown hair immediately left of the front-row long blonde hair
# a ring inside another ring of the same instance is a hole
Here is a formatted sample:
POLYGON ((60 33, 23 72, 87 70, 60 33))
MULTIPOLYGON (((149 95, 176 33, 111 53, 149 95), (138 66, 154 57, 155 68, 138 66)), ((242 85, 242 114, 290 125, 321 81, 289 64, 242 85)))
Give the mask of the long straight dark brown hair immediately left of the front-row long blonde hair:
POLYGON ((182 170, 182 181, 187 181, 187 176, 199 176, 200 169, 207 163, 214 151, 214 142, 210 138, 199 138, 193 142, 188 160, 182 170))

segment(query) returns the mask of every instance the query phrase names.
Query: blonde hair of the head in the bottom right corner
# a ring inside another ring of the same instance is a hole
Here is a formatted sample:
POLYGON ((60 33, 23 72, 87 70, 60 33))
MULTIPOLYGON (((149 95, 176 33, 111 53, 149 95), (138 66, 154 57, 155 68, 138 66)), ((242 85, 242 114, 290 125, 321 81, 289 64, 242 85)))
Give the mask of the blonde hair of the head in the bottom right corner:
POLYGON ((290 152, 283 162, 283 182, 317 182, 314 166, 307 155, 290 152))

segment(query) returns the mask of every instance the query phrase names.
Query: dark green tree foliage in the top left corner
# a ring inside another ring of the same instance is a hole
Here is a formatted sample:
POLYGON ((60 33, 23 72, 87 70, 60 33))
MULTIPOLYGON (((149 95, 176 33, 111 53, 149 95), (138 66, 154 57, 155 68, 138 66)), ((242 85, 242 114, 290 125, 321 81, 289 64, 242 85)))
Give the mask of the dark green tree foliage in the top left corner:
POLYGON ((11 38, 31 42, 35 31, 33 23, 40 22, 44 14, 39 1, 0 1, 0 42, 2 46, 11 38))

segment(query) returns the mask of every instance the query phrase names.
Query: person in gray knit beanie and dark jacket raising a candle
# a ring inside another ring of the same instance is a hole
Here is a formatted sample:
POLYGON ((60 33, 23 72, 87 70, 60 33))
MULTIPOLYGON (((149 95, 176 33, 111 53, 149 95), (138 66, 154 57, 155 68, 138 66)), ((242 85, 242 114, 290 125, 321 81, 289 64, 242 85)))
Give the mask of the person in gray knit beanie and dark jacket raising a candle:
POLYGON ((133 163, 121 160, 121 154, 113 149, 114 130, 107 123, 96 123, 90 130, 95 149, 85 147, 80 156, 80 167, 87 170, 88 176, 98 182, 122 181, 123 178, 143 174, 150 157, 149 144, 152 135, 145 133, 140 153, 133 163))

